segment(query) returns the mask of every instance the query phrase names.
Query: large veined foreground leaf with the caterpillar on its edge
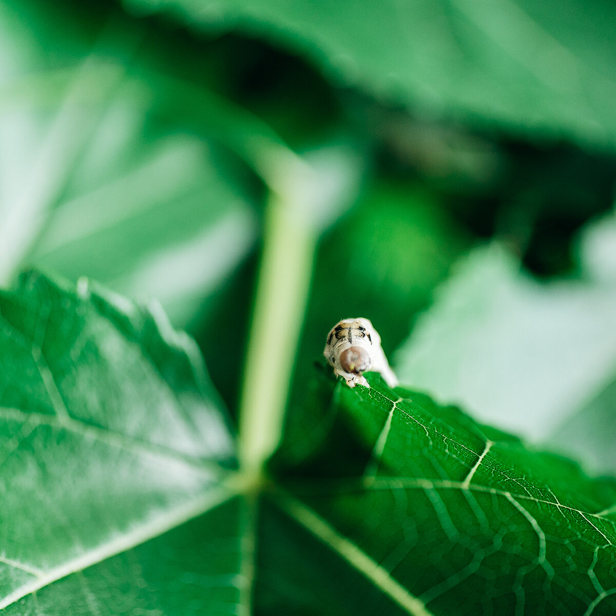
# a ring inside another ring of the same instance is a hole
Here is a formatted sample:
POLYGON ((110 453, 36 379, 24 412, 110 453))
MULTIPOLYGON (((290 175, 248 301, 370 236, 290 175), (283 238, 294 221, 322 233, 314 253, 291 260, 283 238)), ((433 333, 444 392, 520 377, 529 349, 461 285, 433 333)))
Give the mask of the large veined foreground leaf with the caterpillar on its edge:
POLYGON ((3 614, 616 609, 616 480, 321 364, 246 486, 156 306, 29 274, 0 325, 3 614))

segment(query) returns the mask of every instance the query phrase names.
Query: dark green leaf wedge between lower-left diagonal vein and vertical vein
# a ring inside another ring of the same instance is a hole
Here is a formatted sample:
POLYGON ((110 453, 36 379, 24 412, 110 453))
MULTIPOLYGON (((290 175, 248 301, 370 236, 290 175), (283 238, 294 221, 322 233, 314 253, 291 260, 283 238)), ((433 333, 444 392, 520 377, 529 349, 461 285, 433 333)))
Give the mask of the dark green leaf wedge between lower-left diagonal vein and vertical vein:
MULTIPOLYGON (((242 506, 224 501, 186 524, 128 551, 81 570, 83 561, 54 570, 33 584, 35 593, 2 610, 23 614, 201 614, 240 613, 245 582, 240 574, 241 545, 237 527, 242 506), (71 570, 74 571, 71 573, 71 570), (55 583, 52 576, 66 575, 55 583), (237 610, 237 611, 236 611, 237 610)), ((195 512, 190 512, 195 513, 195 512)), ((169 519, 179 524, 181 519, 169 519)), ((150 527, 155 533, 163 529, 150 527)), ((132 535, 137 541, 139 535, 132 535)), ((128 545, 113 545, 113 549, 128 545)), ((97 558, 107 556, 96 554, 97 558)))

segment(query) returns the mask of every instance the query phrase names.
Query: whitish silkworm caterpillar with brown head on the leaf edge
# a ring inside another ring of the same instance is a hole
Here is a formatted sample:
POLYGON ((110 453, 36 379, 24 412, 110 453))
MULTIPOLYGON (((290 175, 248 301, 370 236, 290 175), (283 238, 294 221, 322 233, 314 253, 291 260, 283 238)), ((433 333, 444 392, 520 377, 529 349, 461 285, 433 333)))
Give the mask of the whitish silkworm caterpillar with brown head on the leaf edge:
POLYGON ((389 387, 398 384, 381 347, 381 336, 367 318, 343 318, 336 323, 327 335, 323 355, 349 387, 370 387, 363 376, 370 370, 380 372, 389 387))

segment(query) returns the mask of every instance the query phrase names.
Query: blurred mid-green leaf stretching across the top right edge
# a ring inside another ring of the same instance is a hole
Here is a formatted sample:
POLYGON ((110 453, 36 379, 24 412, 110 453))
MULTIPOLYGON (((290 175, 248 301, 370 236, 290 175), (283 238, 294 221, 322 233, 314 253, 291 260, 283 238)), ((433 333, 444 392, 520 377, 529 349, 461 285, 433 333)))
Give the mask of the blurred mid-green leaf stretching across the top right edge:
POLYGON ((610 2, 126 0, 299 52, 338 84, 413 110, 614 147, 610 2))

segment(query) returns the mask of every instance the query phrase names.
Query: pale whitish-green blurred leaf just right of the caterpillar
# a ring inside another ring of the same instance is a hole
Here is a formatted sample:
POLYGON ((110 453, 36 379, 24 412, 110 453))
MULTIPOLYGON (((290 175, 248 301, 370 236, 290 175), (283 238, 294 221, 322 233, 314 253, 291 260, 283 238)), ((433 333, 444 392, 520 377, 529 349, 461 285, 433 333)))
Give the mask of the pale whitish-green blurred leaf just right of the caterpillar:
POLYGON ((461 259, 396 355, 402 382, 545 439, 612 378, 616 289, 540 283, 499 245, 461 259))

